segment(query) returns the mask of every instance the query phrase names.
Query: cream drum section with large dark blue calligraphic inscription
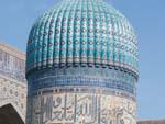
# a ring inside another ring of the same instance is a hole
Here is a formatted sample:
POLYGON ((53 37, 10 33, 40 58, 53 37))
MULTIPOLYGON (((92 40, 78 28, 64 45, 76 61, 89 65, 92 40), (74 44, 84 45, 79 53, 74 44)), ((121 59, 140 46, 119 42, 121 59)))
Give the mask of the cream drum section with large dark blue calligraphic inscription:
POLYGON ((134 101, 96 93, 50 93, 32 99, 32 124, 136 124, 134 101))

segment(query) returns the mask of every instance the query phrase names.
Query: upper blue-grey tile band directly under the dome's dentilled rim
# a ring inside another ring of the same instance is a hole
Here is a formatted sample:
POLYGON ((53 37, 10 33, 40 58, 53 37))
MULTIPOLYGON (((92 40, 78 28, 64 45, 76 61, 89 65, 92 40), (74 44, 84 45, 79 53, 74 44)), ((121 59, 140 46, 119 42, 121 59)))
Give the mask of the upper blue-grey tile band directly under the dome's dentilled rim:
POLYGON ((109 68, 95 68, 95 67, 56 67, 56 68, 45 68, 43 70, 32 71, 26 76, 28 79, 38 79, 40 77, 51 77, 51 76, 91 76, 91 77, 109 77, 113 79, 120 79, 128 81, 130 83, 138 82, 139 76, 133 71, 125 68, 120 68, 116 66, 110 66, 109 68))

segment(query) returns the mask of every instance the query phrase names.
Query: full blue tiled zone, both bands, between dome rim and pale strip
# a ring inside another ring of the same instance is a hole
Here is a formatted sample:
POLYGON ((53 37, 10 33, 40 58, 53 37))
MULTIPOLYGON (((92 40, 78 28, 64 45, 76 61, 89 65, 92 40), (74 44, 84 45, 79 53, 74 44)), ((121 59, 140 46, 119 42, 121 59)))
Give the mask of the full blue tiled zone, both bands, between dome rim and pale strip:
POLYGON ((29 90, 37 91, 52 87, 91 87, 110 88, 136 94, 136 79, 120 70, 106 71, 106 69, 47 69, 37 71, 29 77, 29 90))

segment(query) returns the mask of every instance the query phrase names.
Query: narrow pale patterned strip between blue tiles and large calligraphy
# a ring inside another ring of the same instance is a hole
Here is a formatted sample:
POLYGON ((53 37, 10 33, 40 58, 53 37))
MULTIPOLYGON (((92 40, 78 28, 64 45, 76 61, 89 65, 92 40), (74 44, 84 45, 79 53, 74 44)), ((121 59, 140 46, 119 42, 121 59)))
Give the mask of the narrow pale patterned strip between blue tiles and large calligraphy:
POLYGON ((96 94, 105 94, 105 95, 117 95, 119 98, 127 98, 129 100, 132 100, 136 102, 136 97, 122 90, 117 90, 117 89, 110 89, 110 88, 91 88, 91 87, 76 87, 76 86, 70 86, 70 87, 52 87, 52 88, 45 88, 45 89, 40 89, 37 91, 31 91, 28 93, 28 97, 36 97, 38 94, 50 94, 50 93, 96 93, 96 94))

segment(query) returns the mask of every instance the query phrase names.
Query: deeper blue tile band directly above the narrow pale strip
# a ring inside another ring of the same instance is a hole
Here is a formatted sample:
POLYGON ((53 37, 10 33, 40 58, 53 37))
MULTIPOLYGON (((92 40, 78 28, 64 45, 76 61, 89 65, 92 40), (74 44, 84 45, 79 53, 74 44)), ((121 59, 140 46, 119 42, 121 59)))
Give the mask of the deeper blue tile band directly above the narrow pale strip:
POLYGON ((127 82, 120 82, 110 79, 89 78, 84 76, 57 76, 38 79, 30 86, 30 91, 37 91, 43 88, 52 87, 92 87, 92 88, 111 88, 118 89, 135 95, 135 86, 127 82))

